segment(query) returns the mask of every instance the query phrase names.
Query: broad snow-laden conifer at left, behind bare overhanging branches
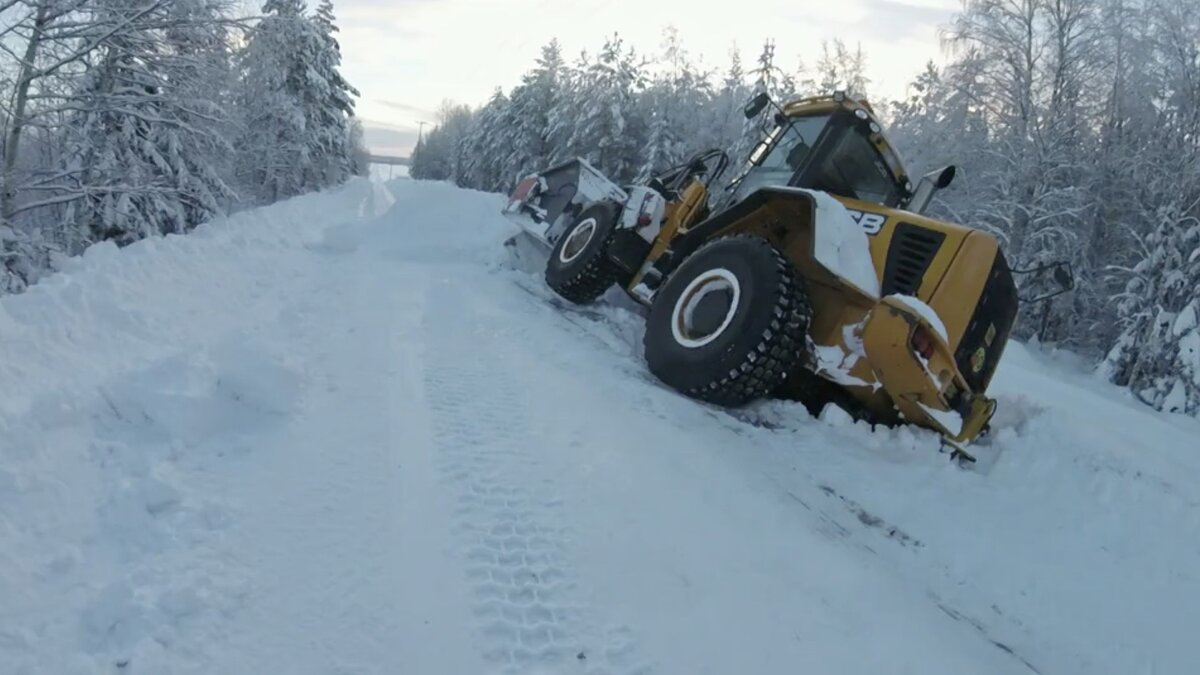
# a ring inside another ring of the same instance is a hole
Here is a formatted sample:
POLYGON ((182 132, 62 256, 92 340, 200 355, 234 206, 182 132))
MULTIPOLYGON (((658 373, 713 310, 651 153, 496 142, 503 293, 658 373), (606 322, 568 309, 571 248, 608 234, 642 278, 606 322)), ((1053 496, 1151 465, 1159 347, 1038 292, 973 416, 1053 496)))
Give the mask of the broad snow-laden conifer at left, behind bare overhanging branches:
POLYGON ((62 174, 53 199, 76 225, 71 244, 185 232, 223 210, 232 192, 215 165, 230 147, 208 89, 222 7, 203 0, 97 0, 103 37, 70 96, 62 174))

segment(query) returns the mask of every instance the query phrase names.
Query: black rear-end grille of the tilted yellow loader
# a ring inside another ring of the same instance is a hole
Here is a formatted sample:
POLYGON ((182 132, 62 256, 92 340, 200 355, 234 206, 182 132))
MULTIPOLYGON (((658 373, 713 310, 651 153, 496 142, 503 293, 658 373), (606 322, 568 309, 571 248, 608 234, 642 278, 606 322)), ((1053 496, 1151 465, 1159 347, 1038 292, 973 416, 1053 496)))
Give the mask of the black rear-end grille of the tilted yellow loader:
POLYGON ((1008 334, 1016 321, 1016 285, 1008 269, 1004 253, 996 251, 996 259, 988 273, 988 282, 979 295, 979 304, 962 333, 962 341, 954 352, 962 377, 974 393, 982 393, 991 382, 1000 357, 1008 342, 1008 334))

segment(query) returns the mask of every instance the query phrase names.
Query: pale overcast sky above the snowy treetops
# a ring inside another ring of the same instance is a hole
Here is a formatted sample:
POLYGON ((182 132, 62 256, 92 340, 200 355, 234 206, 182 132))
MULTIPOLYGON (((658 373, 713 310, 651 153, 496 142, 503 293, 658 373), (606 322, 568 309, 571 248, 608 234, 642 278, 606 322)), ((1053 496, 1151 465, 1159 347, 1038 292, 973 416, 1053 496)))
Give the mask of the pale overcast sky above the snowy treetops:
POLYGON ((336 0, 343 72, 376 151, 407 154, 443 100, 479 104, 511 89, 557 37, 569 60, 607 35, 656 53, 672 25, 694 60, 724 68, 737 47, 751 64, 774 38, 776 62, 811 64, 821 41, 862 44, 871 94, 892 98, 925 61, 942 60, 937 29, 960 0, 336 0))

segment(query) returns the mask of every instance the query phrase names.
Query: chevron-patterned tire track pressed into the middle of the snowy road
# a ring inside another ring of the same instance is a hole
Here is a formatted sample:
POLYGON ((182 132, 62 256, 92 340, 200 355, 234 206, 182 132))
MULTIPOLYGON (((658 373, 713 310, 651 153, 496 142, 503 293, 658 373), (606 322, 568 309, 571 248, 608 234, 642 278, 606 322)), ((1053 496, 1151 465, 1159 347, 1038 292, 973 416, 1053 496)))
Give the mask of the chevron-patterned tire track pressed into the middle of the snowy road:
MULTIPOLYGON (((461 282, 460 282, 461 283, 461 282)), ((426 400, 452 490, 484 657, 502 673, 649 673, 625 627, 599 629, 568 560, 562 500, 526 450, 529 410, 488 315, 436 283, 424 317, 426 400), (486 351, 480 345, 487 345, 486 351)))

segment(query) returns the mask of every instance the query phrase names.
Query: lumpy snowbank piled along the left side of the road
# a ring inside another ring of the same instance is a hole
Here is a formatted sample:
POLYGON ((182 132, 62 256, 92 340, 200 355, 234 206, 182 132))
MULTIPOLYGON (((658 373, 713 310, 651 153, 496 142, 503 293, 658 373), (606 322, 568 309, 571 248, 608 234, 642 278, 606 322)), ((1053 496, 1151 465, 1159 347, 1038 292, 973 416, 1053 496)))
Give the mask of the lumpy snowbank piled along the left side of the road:
POLYGON ((0 298, 0 670, 211 671, 246 578, 221 546, 236 502, 205 476, 311 386, 256 327, 296 319, 325 283, 306 245, 384 213, 380 187, 96 245, 0 298))

